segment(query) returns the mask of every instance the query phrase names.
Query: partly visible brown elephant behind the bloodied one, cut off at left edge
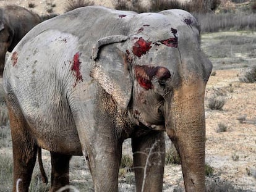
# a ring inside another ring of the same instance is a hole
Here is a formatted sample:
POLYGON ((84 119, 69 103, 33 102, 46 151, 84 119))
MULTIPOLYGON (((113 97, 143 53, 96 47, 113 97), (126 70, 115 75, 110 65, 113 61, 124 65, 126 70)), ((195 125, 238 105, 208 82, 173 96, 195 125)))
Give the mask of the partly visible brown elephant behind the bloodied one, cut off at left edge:
POLYGON ((6 52, 11 52, 22 37, 40 22, 39 15, 23 7, 0 7, 0 77, 4 70, 6 52))

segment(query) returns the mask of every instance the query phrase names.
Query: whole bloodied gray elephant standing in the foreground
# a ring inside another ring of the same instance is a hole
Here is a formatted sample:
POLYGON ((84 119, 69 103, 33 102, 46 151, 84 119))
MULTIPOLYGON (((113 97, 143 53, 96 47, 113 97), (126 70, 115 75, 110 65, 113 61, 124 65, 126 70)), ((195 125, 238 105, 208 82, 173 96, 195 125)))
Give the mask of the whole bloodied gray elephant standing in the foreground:
POLYGON ((18 178, 19 191, 28 190, 38 146, 51 152, 51 191, 69 183, 73 155, 85 157, 95 191, 117 191, 126 138, 137 191, 162 191, 163 131, 181 156, 186 191, 205 191, 212 65, 198 42, 197 21, 184 10, 83 7, 33 28, 4 69, 14 191, 18 178))

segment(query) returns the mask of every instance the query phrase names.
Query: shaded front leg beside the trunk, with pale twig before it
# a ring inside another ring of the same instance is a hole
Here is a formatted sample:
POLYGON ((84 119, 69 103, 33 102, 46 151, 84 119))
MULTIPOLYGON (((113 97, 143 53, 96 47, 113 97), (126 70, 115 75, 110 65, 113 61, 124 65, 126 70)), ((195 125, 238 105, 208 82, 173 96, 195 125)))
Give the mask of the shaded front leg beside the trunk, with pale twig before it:
POLYGON ((137 191, 162 191, 165 158, 163 133, 152 131, 148 135, 132 138, 132 151, 137 191))

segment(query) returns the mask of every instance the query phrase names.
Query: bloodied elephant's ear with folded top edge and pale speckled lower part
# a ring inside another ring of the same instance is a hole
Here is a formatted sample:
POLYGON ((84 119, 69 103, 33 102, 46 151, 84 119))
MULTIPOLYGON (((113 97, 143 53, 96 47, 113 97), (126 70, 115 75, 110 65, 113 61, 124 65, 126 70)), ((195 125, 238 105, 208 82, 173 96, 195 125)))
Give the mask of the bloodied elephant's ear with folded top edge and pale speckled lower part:
POLYGON ((93 67, 90 72, 117 104, 127 108, 132 96, 132 78, 122 45, 129 37, 114 35, 97 41, 92 50, 93 67))

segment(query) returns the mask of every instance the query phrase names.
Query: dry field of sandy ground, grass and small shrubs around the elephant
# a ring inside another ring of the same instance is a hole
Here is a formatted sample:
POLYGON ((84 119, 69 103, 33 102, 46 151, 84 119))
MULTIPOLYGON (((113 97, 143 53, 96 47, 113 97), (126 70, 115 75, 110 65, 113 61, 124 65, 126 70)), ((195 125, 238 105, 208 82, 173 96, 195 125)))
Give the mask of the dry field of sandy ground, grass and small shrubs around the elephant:
MULTIPOLYGON (((28 1, 0 1, 27 6, 28 1)), ((61 14, 61 0, 30 1, 38 14, 53 11, 61 14), (37 3, 39 2, 39 3, 37 3), (51 4, 49 4, 51 3, 51 4), (46 6, 47 9, 46 9, 46 6)), ((113 6, 107 1, 95 4, 113 6)), ((203 33, 202 49, 213 62, 213 72, 208 81, 205 114, 207 128, 206 175, 207 191, 256 191, 256 83, 247 83, 245 73, 256 65, 255 31, 221 31, 203 33)), ((251 73, 256 80, 256 69, 251 73)), ((1 84, 0 79, 0 84, 1 84)), ((0 192, 12 187, 12 144, 7 109, 0 87, 0 192)), ((184 191, 181 165, 176 162, 173 145, 166 139, 166 167, 163 191, 184 191)), ((119 173, 119 190, 135 191, 130 140, 123 146, 123 164, 119 173)), ((43 164, 50 177, 49 152, 43 151, 43 164)), ((93 191, 93 182, 83 157, 73 157, 70 162, 70 185, 79 191, 93 191)), ((49 184, 41 183, 36 164, 30 191, 48 191, 49 184)))

